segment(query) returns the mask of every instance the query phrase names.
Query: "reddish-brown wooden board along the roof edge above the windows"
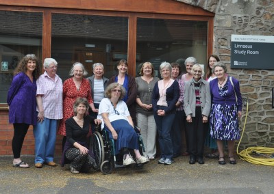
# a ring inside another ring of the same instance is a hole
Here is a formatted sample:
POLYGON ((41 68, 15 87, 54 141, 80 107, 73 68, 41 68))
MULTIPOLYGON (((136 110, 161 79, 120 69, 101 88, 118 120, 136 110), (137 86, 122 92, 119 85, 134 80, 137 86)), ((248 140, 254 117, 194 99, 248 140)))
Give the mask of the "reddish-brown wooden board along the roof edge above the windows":
POLYGON ((214 16, 202 8, 172 0, 0 0, 0 5, 214 16))

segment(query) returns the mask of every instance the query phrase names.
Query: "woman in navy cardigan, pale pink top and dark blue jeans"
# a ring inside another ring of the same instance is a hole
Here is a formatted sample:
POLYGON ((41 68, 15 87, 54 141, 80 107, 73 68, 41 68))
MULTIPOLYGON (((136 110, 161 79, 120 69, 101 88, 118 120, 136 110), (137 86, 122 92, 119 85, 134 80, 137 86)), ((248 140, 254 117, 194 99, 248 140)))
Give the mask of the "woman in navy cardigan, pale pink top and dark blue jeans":
POLYGON ((155 83, 152 94, 153 114, 161 150, 161 158, 158 163, 164 165, 173 163, 171 126, 175 119, 176 103, 179 99, 179 84, 171 79, 171 71, 171 64, 163 62, 160 65, 162 80, 155 83))

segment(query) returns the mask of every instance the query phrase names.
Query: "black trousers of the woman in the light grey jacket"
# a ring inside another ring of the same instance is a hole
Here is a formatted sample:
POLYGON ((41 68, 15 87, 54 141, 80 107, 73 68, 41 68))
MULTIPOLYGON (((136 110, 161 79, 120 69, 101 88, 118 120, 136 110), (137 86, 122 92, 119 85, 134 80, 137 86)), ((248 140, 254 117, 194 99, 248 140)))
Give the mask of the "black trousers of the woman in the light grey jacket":
POLYGON ((202 158, 206 134, 208 133, 208 122, 203 123, 201 107, 196 107, 192 122, 186 122, 186 131, 190 156, 202 158))

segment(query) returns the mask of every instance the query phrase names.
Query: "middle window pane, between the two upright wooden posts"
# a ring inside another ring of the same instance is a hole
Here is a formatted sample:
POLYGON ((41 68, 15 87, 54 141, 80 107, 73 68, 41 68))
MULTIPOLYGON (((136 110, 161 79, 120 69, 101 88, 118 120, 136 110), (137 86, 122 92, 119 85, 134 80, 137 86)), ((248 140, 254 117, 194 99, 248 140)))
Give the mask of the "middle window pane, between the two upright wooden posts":
MULTIPOLYGON (((92 64, 105 67, 105 77, 116 74, 116 62, 127 59, 128 18, 53 14, 51 57, 58 61, 58 75, 68 79, 79 61, 92 74, 92 64)), ((87 77, 88 77, 87 76, 87 77)))

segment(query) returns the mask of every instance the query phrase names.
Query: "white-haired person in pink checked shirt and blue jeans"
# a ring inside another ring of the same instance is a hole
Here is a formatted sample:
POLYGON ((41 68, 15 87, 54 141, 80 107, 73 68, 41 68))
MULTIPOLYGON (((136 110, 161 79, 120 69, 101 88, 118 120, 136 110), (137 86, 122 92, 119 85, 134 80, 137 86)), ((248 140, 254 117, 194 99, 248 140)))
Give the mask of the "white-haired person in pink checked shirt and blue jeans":
POLYGON ((35 167, 57 166, 53 161, 58 120, 63 117, 63 84, 56 74, 57 61, 46 58, 45 72, 37 80, 37 124, 34 126, 35 167))

